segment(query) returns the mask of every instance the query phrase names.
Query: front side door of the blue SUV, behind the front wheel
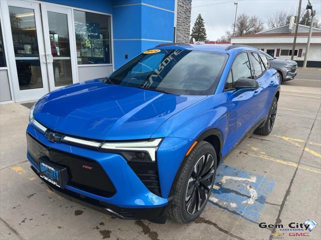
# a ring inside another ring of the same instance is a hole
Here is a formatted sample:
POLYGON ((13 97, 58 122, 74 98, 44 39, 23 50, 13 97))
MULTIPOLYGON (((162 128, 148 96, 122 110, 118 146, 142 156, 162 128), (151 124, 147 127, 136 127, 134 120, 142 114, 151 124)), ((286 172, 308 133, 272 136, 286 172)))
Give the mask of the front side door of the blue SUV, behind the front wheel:
POLYGON ((230 126, 228 133, 229 150, 233 148, 255 125, 257 118, 257 89, 235 89, 234 83, 239 78, 252 78, 248 53, 239 53, 232 64, 225 84, 225 94, 230 102, 230 126))

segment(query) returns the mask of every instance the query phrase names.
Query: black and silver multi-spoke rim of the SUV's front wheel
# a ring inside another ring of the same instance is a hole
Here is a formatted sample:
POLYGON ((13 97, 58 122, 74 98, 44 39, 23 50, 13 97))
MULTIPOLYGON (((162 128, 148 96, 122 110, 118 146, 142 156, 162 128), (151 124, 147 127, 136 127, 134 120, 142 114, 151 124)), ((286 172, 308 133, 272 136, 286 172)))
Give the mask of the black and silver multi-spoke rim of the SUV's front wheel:
POLYGON ((187 184, 185 206, 189 214, 198 212, 206 202, 211 194, 214 175, 214 158, 206 153, 196 162, 187 184))

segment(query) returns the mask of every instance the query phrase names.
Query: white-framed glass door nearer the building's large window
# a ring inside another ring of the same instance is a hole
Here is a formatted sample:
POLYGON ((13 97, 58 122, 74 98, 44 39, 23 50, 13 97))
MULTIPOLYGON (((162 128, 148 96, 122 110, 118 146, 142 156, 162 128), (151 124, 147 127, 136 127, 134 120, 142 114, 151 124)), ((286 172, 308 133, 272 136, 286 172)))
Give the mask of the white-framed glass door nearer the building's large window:
POLYGON ((49 89, 69 85, 76 79, 74 44, 72 44, 71 9, 41 3, 48 67, 49 89))

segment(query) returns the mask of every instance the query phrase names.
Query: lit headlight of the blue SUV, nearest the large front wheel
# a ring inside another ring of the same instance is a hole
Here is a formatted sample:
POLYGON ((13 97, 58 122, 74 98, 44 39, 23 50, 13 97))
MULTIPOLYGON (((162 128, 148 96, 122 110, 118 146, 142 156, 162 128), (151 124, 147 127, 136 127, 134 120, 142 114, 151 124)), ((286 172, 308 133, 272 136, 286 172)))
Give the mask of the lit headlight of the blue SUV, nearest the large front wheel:
POLYGON ((131 162, 154 162, 156 150, 162 138, 154 138, 148 141, 105 142, 100 148, 115 151, 122 154, 131 162))

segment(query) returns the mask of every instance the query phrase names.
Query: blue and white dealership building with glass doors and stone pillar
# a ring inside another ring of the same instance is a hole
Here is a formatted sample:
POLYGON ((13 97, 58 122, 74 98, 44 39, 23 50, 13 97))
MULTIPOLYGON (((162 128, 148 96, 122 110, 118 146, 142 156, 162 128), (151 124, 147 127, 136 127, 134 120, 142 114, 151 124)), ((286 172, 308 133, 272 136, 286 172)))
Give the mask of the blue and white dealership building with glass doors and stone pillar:
POLYGON ((191 0, 0 0, 0 13, 0 101, 10 103, 188 42, 191 0))

